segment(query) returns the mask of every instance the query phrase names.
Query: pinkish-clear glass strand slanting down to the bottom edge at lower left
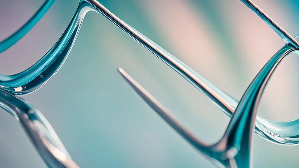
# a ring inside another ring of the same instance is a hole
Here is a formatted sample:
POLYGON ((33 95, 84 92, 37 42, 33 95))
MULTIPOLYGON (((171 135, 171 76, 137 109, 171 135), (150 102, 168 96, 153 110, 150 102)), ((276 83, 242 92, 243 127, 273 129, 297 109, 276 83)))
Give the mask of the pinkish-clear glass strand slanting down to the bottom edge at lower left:
POLYGON ((47 119, 30 103, 0 90, 0 107, 19 121, 48 167, 79 168, 47 119))

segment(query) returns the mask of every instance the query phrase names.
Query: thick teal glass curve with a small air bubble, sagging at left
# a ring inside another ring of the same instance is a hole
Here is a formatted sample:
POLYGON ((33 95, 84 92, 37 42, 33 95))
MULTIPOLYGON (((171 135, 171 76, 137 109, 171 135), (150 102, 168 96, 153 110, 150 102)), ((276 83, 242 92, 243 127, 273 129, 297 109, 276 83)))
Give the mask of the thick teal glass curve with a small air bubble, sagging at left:
POLYGON ((57 73, 74 45, 86 12, 90 10, 84 4, 86 3, 80 3, 65 32, 38 62, 18 74, 0 74, 1 89, 15 95, 28 94, 40 88, 57 73))

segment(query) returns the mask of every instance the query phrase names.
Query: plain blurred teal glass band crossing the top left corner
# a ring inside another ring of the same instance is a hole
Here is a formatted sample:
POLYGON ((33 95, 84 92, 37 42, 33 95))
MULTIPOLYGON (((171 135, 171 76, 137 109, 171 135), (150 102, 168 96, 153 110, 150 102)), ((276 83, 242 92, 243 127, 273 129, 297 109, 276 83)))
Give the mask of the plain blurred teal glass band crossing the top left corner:
POLYGON ((46 0, 34 15, 15 33, 0 42, 0 53, 18 42, 44 16, 56 0, 46 0))

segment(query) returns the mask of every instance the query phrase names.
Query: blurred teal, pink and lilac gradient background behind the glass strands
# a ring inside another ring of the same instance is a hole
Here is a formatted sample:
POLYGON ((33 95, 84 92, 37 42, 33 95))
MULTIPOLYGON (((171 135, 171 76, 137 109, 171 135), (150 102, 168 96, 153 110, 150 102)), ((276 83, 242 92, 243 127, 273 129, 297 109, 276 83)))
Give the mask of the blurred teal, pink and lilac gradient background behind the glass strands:
MULTIPOLYGON (((224 91, 240 98, 285 42, 239 0, 98 0, 109 10, 224 91)), ((299 2, 254 0, 292 36, 299 2)), ((22 26, 42 0, 0 1, 0 40, 22 26)), ((0 72, 33 65, 67 27, 78 0, 57 0, 16 45, 1 53, 0 72)), ((275 72, 258 114, 299 117, 299 58, 275 72)), ((176 72, 103 16, 86 15, 60 71, 24 96, 49 120, 72 159, 87 167, 213 167, 138 97, 117 72, 122 67, 200 138, 215 142, 229 121, 176 72)), ((46 167, 19 123, 0 118, 0 167, 46 167)), ((254 135, 254 167, 298 167, 299 146, 278 146, 254 135)))

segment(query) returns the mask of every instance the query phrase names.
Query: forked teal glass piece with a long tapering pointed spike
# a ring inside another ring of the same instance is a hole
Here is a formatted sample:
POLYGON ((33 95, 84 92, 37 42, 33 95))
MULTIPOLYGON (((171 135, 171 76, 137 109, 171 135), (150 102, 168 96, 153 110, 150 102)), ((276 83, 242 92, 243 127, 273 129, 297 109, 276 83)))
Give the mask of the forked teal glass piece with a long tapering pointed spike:
MULTIPOLYGON (((199 150, 210 161, 219 167, 252 167, 251 144, 257 108, 263 91, 280 62, 290 53, 299 51, 292 44, 285 50, 277 52, 261 69, 247 90, 243 94, 223 137, 215 144, 207 144, 190 133, 171 112, 161 105, 141 85, 130 77, 123 69, 118 68, 120 74, 133 87, 133 89, 146 101, 157 114, 163 118, 185 140, 199 150)), ((291 129, 289 129, 291 131, 291 129)), ((264 138, 271 135, 265 134, 264 138)), ((294 138, 294 137, 290 137, 294 138)), ((297 137, 296 137, 297 138, 297 137)), ((283 138, 282 138, 283 139, 283 138)))

